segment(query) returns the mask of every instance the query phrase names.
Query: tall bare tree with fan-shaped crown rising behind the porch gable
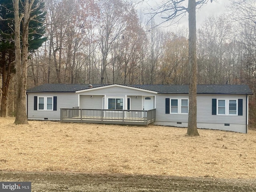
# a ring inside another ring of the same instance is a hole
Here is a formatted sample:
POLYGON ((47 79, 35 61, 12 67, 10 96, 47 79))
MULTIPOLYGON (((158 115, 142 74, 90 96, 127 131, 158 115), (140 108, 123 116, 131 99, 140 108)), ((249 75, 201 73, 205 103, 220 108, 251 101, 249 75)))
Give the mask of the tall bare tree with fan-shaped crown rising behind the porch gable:
POLYGON ((122 38, 124 31, 128 28, 130 19, 135 13, 134 7, 126 0, 101 0, 100 2, 100 24, 98 31, 100 35, 101 72, 100 83, 109 82, 104 80, 107 67, 111 63, 108 55, 114 48, 115 41, 122 38))

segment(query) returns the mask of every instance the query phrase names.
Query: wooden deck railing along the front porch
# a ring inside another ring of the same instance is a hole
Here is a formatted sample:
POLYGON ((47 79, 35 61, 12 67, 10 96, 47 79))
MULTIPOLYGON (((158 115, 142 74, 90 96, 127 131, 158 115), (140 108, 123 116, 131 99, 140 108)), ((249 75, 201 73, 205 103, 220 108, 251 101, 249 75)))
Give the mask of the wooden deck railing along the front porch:
POLYGON ((60 109, 62 122, 90 122, 105 124, 141 124, 155 121, 156 109, 152 110, 110 110, 110 109, 60 109))

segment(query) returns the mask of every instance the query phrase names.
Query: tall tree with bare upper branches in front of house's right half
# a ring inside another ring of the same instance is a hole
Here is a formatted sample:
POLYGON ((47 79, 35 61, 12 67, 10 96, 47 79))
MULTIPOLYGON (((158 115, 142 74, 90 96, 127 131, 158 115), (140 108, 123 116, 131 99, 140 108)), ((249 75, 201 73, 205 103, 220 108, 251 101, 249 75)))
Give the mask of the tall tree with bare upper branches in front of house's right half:
MULTIPOLYGON (((150 14, 154 17, 161 15, 163 22, 178 22, 180 16, 188 12, 188 44, 189 44, 189 114, 188 114, 188 131, 190 136, 198 136, 197 131, 197 106, 196 106, 196 6, 203 6, 209 0, 188 0, 188 6, 185 6, 185 0, 169 0, 154 9, 150 14)), ((212 0, 210 0, 212 2, 212 0)))

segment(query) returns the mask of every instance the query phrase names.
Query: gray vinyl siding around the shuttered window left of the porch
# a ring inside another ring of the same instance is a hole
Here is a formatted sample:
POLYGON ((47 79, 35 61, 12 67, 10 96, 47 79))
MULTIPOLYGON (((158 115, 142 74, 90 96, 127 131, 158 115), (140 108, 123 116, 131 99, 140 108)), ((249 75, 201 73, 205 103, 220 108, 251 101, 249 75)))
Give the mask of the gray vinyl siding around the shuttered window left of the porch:
POLYGON ((27 93, 28 94, 28 119, 29 120, 60 120, 60 108, 72 108, 78 106, 78 95, 74 93, 27 93), (34 96, 57 96, 57 110, 34 110, 34 96))

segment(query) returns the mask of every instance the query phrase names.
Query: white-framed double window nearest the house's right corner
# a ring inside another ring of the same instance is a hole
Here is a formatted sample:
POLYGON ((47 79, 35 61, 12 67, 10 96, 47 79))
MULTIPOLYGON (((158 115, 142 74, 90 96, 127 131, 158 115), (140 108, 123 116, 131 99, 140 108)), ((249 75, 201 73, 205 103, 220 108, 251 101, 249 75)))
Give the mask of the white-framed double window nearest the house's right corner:
POLYGON ((238 115, 238 100, 219 99, 217 110, 218 115, 238 115))

